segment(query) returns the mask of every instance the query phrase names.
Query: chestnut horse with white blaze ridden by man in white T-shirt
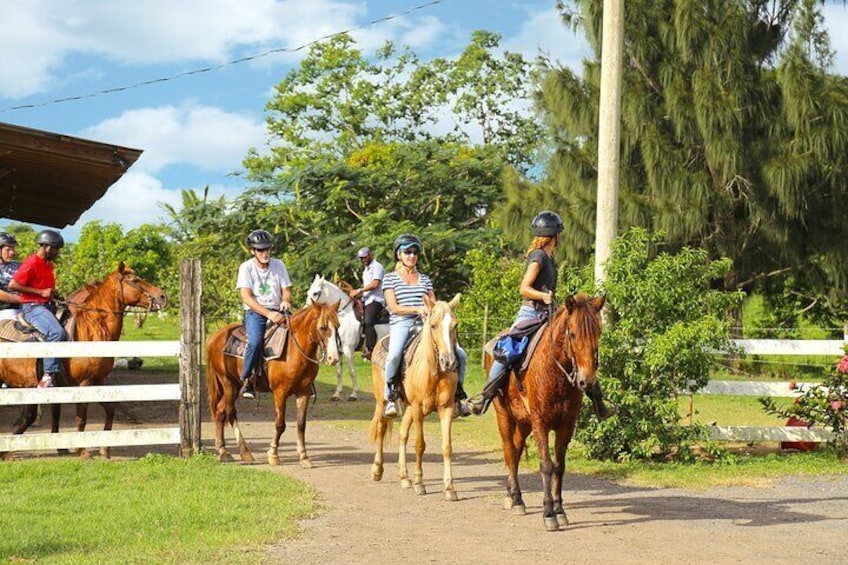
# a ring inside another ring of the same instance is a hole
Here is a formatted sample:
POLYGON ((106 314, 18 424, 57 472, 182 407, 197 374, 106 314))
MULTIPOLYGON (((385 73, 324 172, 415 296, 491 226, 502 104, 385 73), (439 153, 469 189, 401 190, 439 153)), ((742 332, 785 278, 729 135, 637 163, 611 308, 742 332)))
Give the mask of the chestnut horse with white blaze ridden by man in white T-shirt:
MULTIPOLYGON (((280 436, 286 429, 286 401, 297 398, 297 452, 301 467, 311 467, 306 454, 306 412, 312 395, 312 383, 318 374, 319 347, 324 360, 335 365, 339 361, 337 343, 339 317, 338 304, 313 304, 289 318, 289 336, 285 352, 279 359, 268 361, 267 378, 259 379, 256 389, 274 395, 276 433, 268 449, 268 463, 279 465, 280 436)), ((236 399, 241 389, 239 374, 242 360, 224 355, 224 345, 229 335, 239 327, 230 324, 215 332, 206 342, 206 387, 209 409, 215 419, 215 450, 221 461, 231 461, 232 456, 224 444, 224 423, 235 430, 236 442, 242 461, 253 461, 253 454, 241 433, 236 413, 236 399)))

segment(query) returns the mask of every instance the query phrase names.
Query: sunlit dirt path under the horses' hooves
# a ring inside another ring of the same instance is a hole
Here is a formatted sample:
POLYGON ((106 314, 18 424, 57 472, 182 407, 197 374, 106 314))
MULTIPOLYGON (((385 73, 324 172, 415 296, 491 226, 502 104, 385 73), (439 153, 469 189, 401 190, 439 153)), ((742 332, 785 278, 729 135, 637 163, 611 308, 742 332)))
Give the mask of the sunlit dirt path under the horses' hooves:
MULTIPOLYGON (((244 431, 262 453, 268 426, 248 423, 244 431)), ((416 496, 395 478, 396 449, 376 483, 362 432, 313 421, 307 440, 314 468, 297 466, 290 437, 280 471, 313 485, 325 508, 301 523, 299 539, 270 547, 269 563, 846 562, 846 477, 694 492, 567 475, 571 525, 548 533, 537 473, 521 477, 527 515, 502 509, 504 473, 495 454, 457 449, 460 500, 450 503, 440 492, 440 455, 427 456, 427 494, 416 496)), ((438 445, 437 437, 429 441, 438 445)))

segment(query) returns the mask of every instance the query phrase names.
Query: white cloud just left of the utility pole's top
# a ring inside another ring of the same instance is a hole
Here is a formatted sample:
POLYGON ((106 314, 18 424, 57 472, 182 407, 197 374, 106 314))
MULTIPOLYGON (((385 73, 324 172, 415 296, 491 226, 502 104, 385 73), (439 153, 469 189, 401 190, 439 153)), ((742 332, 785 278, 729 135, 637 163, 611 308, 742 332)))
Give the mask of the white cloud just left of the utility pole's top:
POLYGON ((586 40, 567 28, 553 8, 530 13, 518 32, 506 38, 502 45, 530 60, 541 52, 576 71, 581 69, 582 60, 591 54, 586 40))

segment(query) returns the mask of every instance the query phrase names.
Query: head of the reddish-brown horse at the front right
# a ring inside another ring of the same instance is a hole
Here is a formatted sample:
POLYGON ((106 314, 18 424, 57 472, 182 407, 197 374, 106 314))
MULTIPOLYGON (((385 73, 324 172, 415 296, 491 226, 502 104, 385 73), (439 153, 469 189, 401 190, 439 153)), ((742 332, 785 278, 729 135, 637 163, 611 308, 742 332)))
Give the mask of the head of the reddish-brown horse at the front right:
POLYGON ((559 354, 554 352, 554 359, 571 384, 580 390, 586 390, 598 379, 601 309, 605 301, 603 296, 593 298, 582 293, 569 296, 555 320, 554 334, 562 336, 562 349, 559 354), (568 365, 570 370, 566 369, 568 365))

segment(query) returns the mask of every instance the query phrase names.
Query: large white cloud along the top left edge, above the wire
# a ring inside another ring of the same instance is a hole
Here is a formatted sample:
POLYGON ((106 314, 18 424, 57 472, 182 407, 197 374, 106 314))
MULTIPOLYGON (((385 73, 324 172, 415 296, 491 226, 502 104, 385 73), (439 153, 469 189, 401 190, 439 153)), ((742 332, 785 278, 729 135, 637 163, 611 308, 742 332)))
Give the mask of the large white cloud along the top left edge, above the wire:
MULTIPOLYGON (((361 25, 362 2, 338 0, 3 0, 0 2, 0 96, 21 98, 59 82, 82 81, 92 69, 69 71, 73 55, 124 65, 221 63, 276 48, 295 48, 361 25), (59 75, 63 71, 64 75, 59 75)), ((359 30, 363 49, 389 38, 418 47, 441 30, 438 19, 404 16, 359 30)), ((304 56, 306 50, 285 59, 304 56)), ((279 58, 259 59, 271 64, 279 58)))

